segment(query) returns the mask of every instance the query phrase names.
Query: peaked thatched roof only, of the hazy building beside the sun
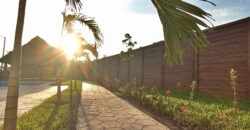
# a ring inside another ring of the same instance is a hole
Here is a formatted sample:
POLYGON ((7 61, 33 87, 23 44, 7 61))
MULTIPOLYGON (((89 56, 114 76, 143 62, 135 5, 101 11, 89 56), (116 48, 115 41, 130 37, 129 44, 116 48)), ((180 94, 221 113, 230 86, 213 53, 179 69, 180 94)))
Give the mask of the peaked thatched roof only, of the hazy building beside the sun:
MULTIPOLYGON (((0 62, 11 64, 12 52, 0 59, 0 62)), ((22 46, 22 65, 46 65, 66 61, 65 53, 50 46, 39 36, 22 46)))

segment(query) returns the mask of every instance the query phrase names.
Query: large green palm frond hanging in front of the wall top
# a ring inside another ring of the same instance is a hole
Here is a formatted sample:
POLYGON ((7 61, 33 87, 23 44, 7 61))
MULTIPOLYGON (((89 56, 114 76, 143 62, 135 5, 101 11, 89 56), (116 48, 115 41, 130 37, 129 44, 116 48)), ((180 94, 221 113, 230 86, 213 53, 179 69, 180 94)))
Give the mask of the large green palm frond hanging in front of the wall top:
POLYGON ((194 50, 200 50, 208 44, 206 35, 199 26, 210 28, 203 21, 210 22, 212 18, 209 13, 182 0, 152 0, 152 3, 162 22, 165 39, 164 57, 169 65, 182 63, 184 51, 180 45, 181 39, 188 42, 194 50))

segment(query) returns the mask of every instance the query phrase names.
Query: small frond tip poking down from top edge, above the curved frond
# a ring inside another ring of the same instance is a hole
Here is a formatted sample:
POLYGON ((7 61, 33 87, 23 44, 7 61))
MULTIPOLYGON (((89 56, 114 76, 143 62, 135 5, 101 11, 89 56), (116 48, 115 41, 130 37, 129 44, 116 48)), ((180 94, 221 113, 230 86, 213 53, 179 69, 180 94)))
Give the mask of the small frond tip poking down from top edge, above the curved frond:
POLYGON ((73 12, 79 12, 82 9, 81 0, 65 0, 66 7, 73 12))

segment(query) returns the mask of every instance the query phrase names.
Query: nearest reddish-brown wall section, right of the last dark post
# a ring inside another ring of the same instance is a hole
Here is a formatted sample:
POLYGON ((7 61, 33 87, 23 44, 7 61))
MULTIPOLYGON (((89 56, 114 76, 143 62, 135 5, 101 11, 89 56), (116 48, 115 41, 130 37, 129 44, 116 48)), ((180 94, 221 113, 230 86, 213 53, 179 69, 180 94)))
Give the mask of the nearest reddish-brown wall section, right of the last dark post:
POLYGON ((208 94, 232 95, 229 71, 238 73, 237 93, 247 96, 248 49, 247 20, 217 27, 208 33, 210 44, 199 53, 200 92, 208 94))

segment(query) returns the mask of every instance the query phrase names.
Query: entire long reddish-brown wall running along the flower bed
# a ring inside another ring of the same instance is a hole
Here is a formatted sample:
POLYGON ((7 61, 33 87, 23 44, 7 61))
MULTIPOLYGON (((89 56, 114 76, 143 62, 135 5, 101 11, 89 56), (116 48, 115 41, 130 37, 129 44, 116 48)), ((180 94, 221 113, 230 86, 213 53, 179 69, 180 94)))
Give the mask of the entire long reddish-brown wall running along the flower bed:
POLYGON ((123 83, 136 77, 138 85, 184 91, 189 91, 195 80, 197 92, 230 96, 229 71, 234 68, 238 74, 237 94, 250 98, 250 18, 205 33, 210 44, 199 53, 181 43, 185 51, 183 64, 172 67, 164 64, 164 42, 161 41, 134 50, 130 58, 124 59, 120 54, 103 58, 95 70, 98 75, 116 77, 123 83))

